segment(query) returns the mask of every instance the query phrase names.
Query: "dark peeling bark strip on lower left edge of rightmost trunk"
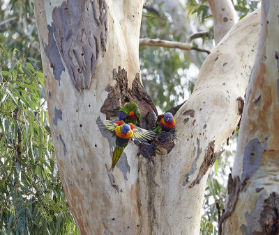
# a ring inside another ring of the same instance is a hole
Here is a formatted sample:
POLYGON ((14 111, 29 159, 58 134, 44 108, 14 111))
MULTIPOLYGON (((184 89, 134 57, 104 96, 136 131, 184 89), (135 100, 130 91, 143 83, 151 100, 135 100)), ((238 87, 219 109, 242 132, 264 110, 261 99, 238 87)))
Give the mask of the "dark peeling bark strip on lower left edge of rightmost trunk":
POLYGON ((229 179, 227 181, 227 211, 223 210, 223 214, 220 217, 220 220, 218 222, 218 234, 222 234, 222 224, 225 219, 229 218, 231 216, 232 211, 234 211, 234 207, 236 205, 236 202, 239 198, 239 191, 242 189, 243 185, 241 185, 241 180, 239 177, 234 177, 232 179, 232 174, 229 173, 229 179))

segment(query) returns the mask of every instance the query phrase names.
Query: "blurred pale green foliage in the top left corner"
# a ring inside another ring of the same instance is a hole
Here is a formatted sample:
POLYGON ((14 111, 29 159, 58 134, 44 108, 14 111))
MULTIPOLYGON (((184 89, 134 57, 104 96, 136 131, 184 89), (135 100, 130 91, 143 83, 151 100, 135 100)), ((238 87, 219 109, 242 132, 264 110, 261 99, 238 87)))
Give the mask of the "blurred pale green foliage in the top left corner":
POLYGON ((6 48, 17 48, 19 56, 24 54, 26 57, 35 58, 33 66, 41 67, 33 1, 0 0, 0 42, 5 44, 6 48))

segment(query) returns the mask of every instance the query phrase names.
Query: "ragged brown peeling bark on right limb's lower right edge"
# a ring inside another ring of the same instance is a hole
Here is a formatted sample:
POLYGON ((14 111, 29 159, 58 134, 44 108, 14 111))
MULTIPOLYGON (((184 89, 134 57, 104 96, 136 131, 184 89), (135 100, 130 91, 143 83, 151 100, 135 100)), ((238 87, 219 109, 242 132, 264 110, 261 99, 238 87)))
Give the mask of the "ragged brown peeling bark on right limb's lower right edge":
POLYGON ((202 162, 202 165, 199 168, 197 178, 190 184, 189 188, 192 188, 193 186, 195 186, 195 184, 199 184, 202 177, 206 174, 207 170, 211 168, 216 159, 218 159, 218 157, 225 151, 225 149, 223 149, 220 152, 214 152, 214 142, 215 140, 211 141, 207 146, 204 161, 202 162))

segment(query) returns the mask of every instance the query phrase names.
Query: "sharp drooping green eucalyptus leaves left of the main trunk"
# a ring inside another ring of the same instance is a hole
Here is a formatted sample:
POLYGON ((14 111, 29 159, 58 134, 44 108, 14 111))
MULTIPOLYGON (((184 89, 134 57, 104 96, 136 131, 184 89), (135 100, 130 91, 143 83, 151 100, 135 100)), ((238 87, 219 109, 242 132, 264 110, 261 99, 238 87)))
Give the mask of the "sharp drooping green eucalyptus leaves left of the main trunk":
POLYGON ((0 44, 0 232, 78 234, 54 158, 43 74, 0 44))

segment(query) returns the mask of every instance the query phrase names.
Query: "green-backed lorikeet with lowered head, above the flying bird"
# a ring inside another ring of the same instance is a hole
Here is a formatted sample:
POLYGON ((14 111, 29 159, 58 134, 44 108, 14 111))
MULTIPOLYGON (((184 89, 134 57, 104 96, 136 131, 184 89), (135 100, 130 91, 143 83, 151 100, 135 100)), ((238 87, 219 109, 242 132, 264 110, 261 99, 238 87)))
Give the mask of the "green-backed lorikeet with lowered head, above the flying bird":
POLYGON ((126 119, 126 122, 137 124, 137 118, 140 118, 140 109, 137 103, 128 102, 123 105, 122 108, 119 109, 119 119, 126 119))

